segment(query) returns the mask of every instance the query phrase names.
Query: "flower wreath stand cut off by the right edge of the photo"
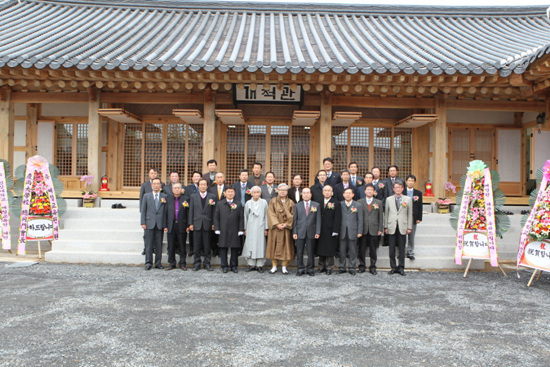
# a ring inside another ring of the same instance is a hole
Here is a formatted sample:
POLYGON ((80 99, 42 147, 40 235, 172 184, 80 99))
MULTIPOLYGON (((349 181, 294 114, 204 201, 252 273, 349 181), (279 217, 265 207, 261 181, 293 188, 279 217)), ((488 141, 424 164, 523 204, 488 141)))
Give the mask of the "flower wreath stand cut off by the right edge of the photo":
POLYGON ((521 231, 517 257, 518 269, 535 269, 528 286, 537 271, 550 271, 550 160, 537 172, 537 181, 540 185, 538 191, 531 193, 533 207, 521 231))

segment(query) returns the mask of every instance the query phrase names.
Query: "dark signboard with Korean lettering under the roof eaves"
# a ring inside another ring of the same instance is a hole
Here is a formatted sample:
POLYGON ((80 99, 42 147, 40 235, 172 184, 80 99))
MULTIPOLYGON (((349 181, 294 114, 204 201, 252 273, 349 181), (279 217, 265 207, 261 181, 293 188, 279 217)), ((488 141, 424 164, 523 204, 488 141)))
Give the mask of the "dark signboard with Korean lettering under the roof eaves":
POLYGON ((284 103, 301 104, 303 101, 302 86, 296 85, 293 89, 285 84, 282 88, 277 88, 275 84, 269 84, 268 88, 264 84, 255 85, 245 84, 244 88, 239 89, 233 85, 235 103, 284 103))

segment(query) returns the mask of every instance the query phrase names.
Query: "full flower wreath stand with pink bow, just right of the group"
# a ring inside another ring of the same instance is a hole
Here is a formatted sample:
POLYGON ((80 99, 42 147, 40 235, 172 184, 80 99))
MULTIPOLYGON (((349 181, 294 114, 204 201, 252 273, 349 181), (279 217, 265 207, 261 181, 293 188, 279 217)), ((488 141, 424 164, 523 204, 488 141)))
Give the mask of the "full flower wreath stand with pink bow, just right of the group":
POLYGON ((502 237, 510 223, 500 212, 506 198, 502 190, 497 189, 499 182, 498 173, 489 170, 485 163, 470 162, 462 178, 463 190, 457 194, 460 208, 451 216, 451 224, 457 230, 456 264, 462 265, 465 257, 470 259, 468 268, 471 259, 488 259, 491 266, 499 266, 496 238, 497 235, 502 237), (500 220, 497 220, 497 213, 500 220))

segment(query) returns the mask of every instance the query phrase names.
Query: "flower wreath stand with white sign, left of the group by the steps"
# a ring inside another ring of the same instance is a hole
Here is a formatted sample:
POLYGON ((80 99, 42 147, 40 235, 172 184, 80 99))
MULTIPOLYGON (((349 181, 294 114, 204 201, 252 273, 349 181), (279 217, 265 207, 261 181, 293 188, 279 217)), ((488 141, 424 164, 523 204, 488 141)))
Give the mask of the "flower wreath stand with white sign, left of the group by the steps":
POLYGON ((25 255, 27 241, 58 239, 57 200, 48 161, 34 156, 27 161, 17 253, 25 255))

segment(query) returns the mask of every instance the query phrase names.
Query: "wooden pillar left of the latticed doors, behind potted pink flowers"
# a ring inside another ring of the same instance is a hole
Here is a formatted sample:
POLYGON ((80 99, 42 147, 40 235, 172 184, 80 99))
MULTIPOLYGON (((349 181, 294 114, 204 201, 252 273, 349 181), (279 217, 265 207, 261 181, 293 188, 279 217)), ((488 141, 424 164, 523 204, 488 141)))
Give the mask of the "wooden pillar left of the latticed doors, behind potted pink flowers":
POLYGON ((101 118, 97 112, 100 107, 101 93, 89 92, 88 101, 88 174, 94 176, 93 186, 97 189, 103 173, 101 167, 101 118))

